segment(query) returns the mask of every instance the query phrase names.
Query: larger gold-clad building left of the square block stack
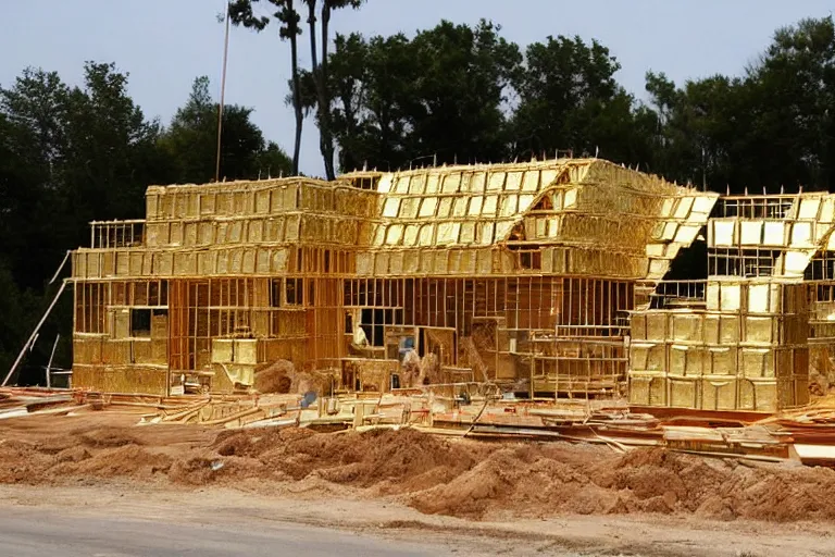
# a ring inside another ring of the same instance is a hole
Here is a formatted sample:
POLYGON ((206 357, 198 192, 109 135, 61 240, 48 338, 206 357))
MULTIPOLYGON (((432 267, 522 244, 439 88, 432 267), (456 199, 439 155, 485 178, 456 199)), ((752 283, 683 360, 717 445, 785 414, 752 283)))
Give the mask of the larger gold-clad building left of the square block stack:
POLYGON ((478 362, 463 356, 465 339, 488 319, 493 342, 477 350, 491 380, 526 382, 532 394, 612 394, 634 282, 665 272, 715 195, 560 159, 151 186, 146 199, 145 221, 94 223, 91 247, 73 253, 77 338, 99 335, 79 342, 79 366, 102 359, 96 347, 115 354, 113 364, 141 362, 147 341, 126 315, 142 306, 117 298, 158 282, 167 299, 148 307, 165 315, 167 345, 151 358, 173 373, 210 372, 215 341, 240 334, 254 339, 257 363, 338 370, 347 315, 357 326, 370 312, 370 331, 451 334, 440 362, 450 376, 468 375, 459 357, 478 362))

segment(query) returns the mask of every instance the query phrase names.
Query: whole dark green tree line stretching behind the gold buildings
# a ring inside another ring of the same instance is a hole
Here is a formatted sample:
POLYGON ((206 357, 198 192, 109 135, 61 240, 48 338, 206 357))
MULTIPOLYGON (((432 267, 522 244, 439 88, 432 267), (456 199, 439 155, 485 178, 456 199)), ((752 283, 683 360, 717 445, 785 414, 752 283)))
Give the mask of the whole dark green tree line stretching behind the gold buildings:
MULTIPOLYGON (((288 157, 251 122, 252 109, 225 107, 228 180, 298 174, 312 115, 325 177, 571 150, 719 191, 828 189, 835 181, 831 16, 776 30, 738 76, 675 84, 650 71, 638 98, 618 83, 620 63, 597 40, 558 35, 522 47, 487 21, 332 38, 333 14, 362 1, 258 1, 233 0, 228 15, 277 29, 290 45, 292 77, 276 102, 294 108, 296 141, 288 157), (299 66, 300 38, 309 39, 311 67, 299 66)), ((141 218, 149 184, 214 177, 219 107, 208 79, 196 79, 163 124, 128 96, 127 78, 113 64, 89 63, 76 87, 34 69, 0 85, 0 372, 49 304, 55 286, 46 282, 65 250, 88 244, 89 221, 141 218)), ((67 296, 27 361, 46 362, 60 332, 57 360, 68 364, 71 323, 67 296)))

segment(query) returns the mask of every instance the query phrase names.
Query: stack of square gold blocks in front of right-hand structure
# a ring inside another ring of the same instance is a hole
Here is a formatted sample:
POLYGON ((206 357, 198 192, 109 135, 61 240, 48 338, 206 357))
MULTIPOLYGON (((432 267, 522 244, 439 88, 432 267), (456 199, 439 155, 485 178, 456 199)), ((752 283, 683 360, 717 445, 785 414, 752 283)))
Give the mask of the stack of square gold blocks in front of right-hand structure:
POLYGON ((705 309, 632 315, 630 401, 773 412, 808 403, 802 284, 711 280, 705 309))

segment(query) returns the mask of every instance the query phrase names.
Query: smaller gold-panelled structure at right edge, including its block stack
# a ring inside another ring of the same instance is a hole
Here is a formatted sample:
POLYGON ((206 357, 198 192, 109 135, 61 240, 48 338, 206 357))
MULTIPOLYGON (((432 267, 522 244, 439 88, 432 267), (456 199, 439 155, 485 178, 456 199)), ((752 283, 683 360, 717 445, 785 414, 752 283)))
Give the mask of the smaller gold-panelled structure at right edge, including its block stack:
POLYGON ((631 400, 759 411, 808 401, 810 347, 820 361, 835 343, 834 213, 828 194, 723 197, 708 222, 700 308, 632 317, 631 400))

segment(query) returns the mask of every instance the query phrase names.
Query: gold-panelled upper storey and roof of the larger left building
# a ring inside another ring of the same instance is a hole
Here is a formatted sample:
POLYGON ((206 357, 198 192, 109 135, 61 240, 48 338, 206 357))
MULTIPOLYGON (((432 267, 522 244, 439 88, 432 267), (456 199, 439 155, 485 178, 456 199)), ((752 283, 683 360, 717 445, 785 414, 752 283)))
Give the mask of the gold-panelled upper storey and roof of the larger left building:
POLYGON ((501 275, 520 272, 503 246, 521 227, 513 243, 541 249, 541 271, 660 277, 715 197, 597 159, 386 173, 376 190, 350 175, 151 186, 145 245, 73 262, 84 278, 272 275, 296 271, 303 245, 334 248, 363 276, 501 275))

